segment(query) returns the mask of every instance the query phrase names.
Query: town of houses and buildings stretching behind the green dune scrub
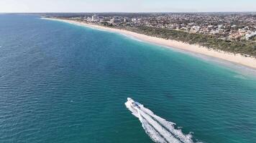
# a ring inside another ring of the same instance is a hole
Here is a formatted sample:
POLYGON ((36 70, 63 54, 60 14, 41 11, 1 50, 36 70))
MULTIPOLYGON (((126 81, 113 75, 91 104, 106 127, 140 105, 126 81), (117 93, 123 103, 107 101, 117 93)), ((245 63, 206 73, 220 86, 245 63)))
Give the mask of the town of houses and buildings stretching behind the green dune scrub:
POLYGON ((70 16, 104 26, 149 26, 162 29, 207 34, 225 40, 255 40, 255 13, 192 13, 192 14, 86 14, 70 16))

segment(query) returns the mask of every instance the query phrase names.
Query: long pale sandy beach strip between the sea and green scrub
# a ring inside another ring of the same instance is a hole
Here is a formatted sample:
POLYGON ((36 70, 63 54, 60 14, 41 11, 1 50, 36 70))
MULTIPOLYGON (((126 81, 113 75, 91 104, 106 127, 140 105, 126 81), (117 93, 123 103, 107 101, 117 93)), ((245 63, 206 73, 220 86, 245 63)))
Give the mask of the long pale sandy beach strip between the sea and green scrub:
POLYGON ((111 31, 119 34, 124 34, 127 36, 132 36, 136 39, 146 41, 152 44, 158 44, 162 46, 166 46, 170 49, 181 49, 184 51, 190 51, 196 54, 202 54, 204 56, 211 56, 217 59, 222 59, 224 61, 229 61, 234 64, 240 64, 243 66, 247 66, 251 69, 256 69, 256 59, 252 57, 245 57, 241 54, 232 54, 225 51, 214 51, 214 49, 208 49, 204 46, 199 46, 196 44, 186 44, 181 41, 174 41, 174 40, 167 40, 167 39, 161 39, 153 36, 147 36, 144 34, 137 34, 133 31, 126 31, 123 29, 114 29, 106 26, 99 26, 95 24, 86 24, 78 21, 72 21, 72 20, 66 20, 66 19, 51 19, 51 18, 42 18, 47 20, 53 20, 53 21, 63 21, 69 24, 76 24, 79 26, 86 26, 94 29, 101 29, 105 31, 111 31))

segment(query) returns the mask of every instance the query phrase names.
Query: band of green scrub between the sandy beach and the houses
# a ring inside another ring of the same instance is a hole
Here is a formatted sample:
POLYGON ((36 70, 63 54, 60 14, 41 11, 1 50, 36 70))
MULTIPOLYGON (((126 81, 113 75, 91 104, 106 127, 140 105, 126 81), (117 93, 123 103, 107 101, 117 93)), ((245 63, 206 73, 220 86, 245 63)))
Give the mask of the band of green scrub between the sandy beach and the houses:
POLYGON ((216 36, 204 34, 192 34, 186 31, 160 29, 148 26, 119 26, 119 29, 126 29, 140 34, 155 36, 163 39, 173 39, 176 41, 183 41, 188 44, 199 44, 206 46, 209 49, 228 51, 234 54, 243 54, 244 56, 256 57, 256 41, 240 40, 230 41, 219 39, 216 36))

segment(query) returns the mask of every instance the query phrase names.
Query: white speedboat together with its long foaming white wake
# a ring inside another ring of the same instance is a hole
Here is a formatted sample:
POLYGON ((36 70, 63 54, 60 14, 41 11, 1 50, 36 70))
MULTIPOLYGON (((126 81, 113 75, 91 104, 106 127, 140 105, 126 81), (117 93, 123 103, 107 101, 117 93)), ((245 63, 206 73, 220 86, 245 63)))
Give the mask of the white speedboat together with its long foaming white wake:
POLYGON ((175 129, 175 123, 158 117, 139 102, 127 98, 125 105, 135 117, 140 119, 143 129, 154 142, 193 143, 191 133, 183 134, 181 129, 175 129))

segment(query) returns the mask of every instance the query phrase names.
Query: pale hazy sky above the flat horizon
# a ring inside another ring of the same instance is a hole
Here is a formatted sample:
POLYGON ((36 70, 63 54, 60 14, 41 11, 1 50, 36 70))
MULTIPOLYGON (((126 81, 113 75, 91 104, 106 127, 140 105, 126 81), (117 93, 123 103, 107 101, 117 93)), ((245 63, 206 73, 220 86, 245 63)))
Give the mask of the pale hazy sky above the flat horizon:
POLYGON ((256 11, 256 0, 0 0, 0 13, 256 11))

